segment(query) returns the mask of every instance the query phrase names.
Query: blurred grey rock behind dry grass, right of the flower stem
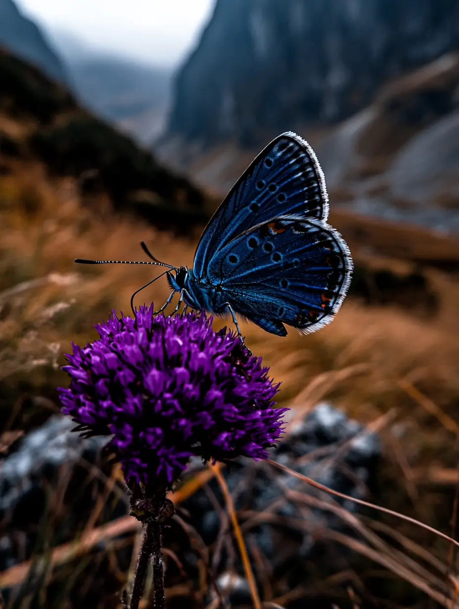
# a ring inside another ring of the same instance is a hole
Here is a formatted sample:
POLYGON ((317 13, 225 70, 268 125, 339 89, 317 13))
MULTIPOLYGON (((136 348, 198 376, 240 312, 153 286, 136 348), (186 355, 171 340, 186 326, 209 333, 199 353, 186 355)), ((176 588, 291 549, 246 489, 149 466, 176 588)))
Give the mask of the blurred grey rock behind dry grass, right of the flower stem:
MULTIPOLYGON (((271 459, 327 487, 360 499, 365 497, 367 485, 372 484, 380 456, 379 437, 365 431, 329 403, 318 404, 303 421, 295 423, 285 440, 271 452, 271 459)), ((310 564, 314 560, 317 560, 316 566, 322 576, 332 573, 346 555, 346 550, 333 545, 328 554, 324 552, 324 543, 320 542, 321 530, 346 530, 343 521, 333 512, 313 505, 302 509, 300 504, 289 501, 286 491, 299 491, 324 501, 327 501, 327 496, 291 474, 263 462, 240 460, 239 465, 224 470, 224 476, 235 498, 244 539, 250 538, 256 544, 263 560, 272 569, 273 580, 287 580, 289 590, 305 585, 311 577, 310 564), (264 519, 263 514, 268 518, 264 519), (244 529, 244 522, 255 515, 260 516, 260 523, 250 530, 244 529), (274 516, 274 520, 269 516, 274 516), (301 521, 307 526, 299 527, 297 523, 301 521)), ((179 507, 179 513, 186 515, 182 517, 199 533, 205 546, 213 548, 218 546, 222 526, 221 513, 216 511, 215 501, 224 506, 218 484, 213 480, 207 491, 197 491, 179 507)), ((333 502, 338 502, 350 512, 359 510, 357 504, 348 500, 333 497, 333 502)), ((187 547, 187 540, 175 523, 171 532, 166 533, 165 543, 182 553, 187 547)), ((250 599, 247 582, 239 559, 234 574, 227 571, 227 559, 228 554, 223 547, 221 559, 216 560, 216 572, 218 580, 227 589, 232 607, 238 607, 250 599)), ((188 569, 194 568, 194 565, 188 565, 188 569)), ((255 565, 254 569, 257 571, 255 565)))

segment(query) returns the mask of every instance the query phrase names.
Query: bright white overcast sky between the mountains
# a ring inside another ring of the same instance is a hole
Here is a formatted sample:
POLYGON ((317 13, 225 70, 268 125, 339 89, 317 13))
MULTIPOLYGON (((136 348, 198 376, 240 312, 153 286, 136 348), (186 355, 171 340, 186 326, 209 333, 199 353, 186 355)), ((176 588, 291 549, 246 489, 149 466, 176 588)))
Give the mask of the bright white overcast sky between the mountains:
POLYGON ((193 46, 215 0, 16 0, 42 26, 95 49, 176 65, 193 46))

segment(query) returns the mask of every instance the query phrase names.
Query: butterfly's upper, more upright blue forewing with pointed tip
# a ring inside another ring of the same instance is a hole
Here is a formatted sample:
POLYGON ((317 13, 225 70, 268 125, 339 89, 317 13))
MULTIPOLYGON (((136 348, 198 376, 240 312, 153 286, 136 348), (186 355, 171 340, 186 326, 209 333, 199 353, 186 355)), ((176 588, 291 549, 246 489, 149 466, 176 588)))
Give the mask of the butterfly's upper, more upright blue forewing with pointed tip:
POLYGON ((256 224, 287 214, 325 221, 328 213, 313 149, 296 133, 283 133, 255 158, 208 223, 194 255, 194 276, 201 279, 214 253, 256 224))

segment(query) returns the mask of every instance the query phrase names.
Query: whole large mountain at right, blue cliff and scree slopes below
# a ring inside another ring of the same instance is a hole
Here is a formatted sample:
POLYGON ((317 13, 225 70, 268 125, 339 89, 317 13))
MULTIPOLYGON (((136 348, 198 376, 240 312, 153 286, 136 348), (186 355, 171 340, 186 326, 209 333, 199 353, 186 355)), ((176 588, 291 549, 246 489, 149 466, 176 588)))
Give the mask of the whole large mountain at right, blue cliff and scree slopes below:
POLYGON ((457 0, 218 0, 155 152, 222 196, 294 130, 332 210, 458 235, 455 49, 457 0))

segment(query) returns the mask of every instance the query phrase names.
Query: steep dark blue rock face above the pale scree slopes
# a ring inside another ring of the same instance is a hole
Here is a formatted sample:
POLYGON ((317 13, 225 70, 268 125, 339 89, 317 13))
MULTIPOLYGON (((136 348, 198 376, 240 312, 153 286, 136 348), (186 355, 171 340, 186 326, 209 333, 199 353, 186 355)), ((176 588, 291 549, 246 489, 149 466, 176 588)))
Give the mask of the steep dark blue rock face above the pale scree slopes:
POLYGON ((250 147, 335 123, 455 48, 457 0, 217 0, 177 74, 167 136, 250 147))

